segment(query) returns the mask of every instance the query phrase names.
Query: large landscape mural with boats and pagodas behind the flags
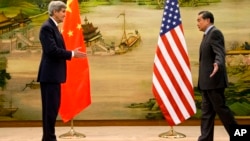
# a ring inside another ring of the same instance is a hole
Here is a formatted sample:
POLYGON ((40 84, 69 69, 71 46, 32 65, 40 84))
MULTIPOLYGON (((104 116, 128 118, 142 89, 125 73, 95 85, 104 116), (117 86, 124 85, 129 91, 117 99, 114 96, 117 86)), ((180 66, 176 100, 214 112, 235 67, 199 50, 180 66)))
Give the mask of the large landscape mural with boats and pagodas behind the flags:
MULTIPOLYGON (((41 57, 38 34, 50 0, 0 0, 0 120, 41 120, 36 82, 41 57)), ((230 86, 227 104, 250 117, 249 0, 179 0, 196 89, 201 10, 210 10, 224 33, 230 86)), ((163 0, 79 0, 90 65, 92 104, 75 120, 163 119, 152 94, 152 69, 163 0)), ((60 119, 60 117, 58 117, 60 119)))

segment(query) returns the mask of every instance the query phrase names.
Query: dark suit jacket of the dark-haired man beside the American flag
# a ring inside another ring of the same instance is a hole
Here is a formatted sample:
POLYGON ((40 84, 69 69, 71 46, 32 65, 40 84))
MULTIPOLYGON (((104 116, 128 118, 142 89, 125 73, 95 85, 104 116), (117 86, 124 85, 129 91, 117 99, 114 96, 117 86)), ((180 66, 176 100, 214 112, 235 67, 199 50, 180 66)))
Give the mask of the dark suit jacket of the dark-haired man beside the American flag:
POLYGON ((198 88, 209 90, 226 88, 227 85, 224 37, 220 30, 212 27, 200 45, 198 88), (214 69, 213 63, 218 63, 219 70, 210 78, 214 69))

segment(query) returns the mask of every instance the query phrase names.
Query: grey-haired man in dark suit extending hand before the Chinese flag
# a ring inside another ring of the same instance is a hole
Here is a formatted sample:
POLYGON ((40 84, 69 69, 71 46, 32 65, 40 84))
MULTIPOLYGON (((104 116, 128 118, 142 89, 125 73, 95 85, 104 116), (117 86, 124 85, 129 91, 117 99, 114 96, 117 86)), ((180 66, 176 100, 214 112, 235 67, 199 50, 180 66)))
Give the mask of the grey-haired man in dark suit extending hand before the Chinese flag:
POLYGON ((63 22, 66 4, 51 1, 48 6, 49 19, 40 30, 42 57, 38 71, 42 97, 42 141, 56 141, 55 123, 60 107, 61 83, 66 81, 66 60, 83 58, 86 54, 76 48, 66 50, 63 37, 57 25, 63 22))

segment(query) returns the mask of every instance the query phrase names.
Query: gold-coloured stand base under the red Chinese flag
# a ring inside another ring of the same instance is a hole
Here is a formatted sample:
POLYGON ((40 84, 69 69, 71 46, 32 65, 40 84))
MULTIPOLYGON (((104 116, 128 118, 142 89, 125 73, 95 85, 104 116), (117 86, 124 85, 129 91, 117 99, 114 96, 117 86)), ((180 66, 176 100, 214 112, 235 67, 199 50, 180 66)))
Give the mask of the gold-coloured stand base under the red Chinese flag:
POLYGON ((62 139, 79 139, 79 138, 85 138, 85 137, 86 136, 84 134, 78 133, 73 129, 73 120, 71 120, 70 131, 59 136, 59 138, 62 138, 62 139))

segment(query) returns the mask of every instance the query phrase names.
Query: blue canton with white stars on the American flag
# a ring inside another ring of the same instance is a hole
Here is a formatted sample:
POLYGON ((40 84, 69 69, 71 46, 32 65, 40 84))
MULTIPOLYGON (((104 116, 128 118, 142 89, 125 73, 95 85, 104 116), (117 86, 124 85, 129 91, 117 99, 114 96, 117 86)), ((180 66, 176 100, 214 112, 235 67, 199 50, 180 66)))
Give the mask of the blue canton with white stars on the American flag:
POLYGON ((166 0, 160 35, 163 35, 181 24, 178 0, 166 0))

